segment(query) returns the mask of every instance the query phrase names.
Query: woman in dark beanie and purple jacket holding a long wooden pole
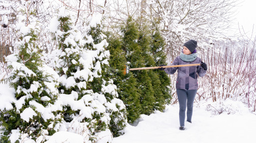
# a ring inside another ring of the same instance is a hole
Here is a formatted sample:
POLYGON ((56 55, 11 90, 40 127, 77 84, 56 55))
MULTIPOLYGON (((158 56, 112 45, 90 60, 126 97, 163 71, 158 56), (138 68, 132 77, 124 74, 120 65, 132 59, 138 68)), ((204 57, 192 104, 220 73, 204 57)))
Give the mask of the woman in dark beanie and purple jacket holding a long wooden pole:
POLYGON ((187 64, 199 64, 200 66, 191 67, 176 67, 176 68, 159 68, 161 71, 165 71, 168 74, 174 74, 178 70, 178 77, 176 81, 177 96, 180 104, 180 130, 186 130, 185 128, 185 111, 187 106, 187 121, 191 122, 193 113, 193 103, 198 89, 198 75, 203 77, 207 71, 206 63, 202 62, 198 58, 197 54, 197 41, 189 40, 183 45, 183 51, 181 55, 176 57, 172 65, 187 65, 187 64))

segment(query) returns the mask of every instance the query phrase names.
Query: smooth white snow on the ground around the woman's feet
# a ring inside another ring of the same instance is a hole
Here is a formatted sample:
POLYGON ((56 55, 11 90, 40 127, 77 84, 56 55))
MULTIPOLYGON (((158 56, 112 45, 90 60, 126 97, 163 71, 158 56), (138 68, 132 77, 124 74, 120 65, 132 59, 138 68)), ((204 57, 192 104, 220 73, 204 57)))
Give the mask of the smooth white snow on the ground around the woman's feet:
POLYGON ((256 115, 236 113, 211 117, 211 113, 194 107, 192 124, 179 130, 179 106, 167 106, 166 112, 142 115, 138 126, 128 125, 125 134, 113 143, 256 143, 256 115))

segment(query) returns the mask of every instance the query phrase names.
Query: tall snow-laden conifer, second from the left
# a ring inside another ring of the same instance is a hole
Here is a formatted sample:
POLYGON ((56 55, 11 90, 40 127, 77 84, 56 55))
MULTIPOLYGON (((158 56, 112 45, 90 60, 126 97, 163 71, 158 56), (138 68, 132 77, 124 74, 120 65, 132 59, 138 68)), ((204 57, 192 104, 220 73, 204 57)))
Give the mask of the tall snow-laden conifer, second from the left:
POLYGON ((106 100, 104 95, 95 94, 90 88, 93 86, 88 86, 93 77, 99 76, 98 71, 101 69, 93 67, 92 57, 86 57, 88 55, 83 50, 85 41, 75 30, 69 13, 64 12, 68 10, 61 8, 59 10, 60 14, 53 18, 58 20, 59 25, 52 29, 54 38, 58 42, 58 50, 53 52, 56 56, 53 67, 60 75, 58 89, 61 94, 57 103, 62 105, 61 113, 64 121, 71 126, 67 131, 80 134, 88 141, 95 141, 97 133, 105 131, 109 121, 109 117, 105 114, 106 109, 102 105, 106 100), (91 63, 86 63, 89 61, 91 63), (90 69, 96 72, 91 72, 90 69), (97 100, 99 97, 102 102, 97 100))

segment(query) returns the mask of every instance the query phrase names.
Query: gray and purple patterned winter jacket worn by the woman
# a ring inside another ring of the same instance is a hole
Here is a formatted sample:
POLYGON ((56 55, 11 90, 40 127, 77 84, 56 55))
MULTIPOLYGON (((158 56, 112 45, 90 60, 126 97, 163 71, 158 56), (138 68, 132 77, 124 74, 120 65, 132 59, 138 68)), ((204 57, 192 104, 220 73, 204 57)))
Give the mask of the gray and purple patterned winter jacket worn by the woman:
MULTIPOLYGON (((187 64, 200 64, 201 59, 197 59, 193 62, 185 62, 181 60, 180 56, 176 57, 172 65, 187 65, 187 64)), ((178 70, 178 77, 176 80, 176 88, 184 90, 198 89, 198 76, 203 77, 206 71, 201 66, 191 67, 175 67, 166 68, 164 71, 168 74, 174 74, 178 70)))

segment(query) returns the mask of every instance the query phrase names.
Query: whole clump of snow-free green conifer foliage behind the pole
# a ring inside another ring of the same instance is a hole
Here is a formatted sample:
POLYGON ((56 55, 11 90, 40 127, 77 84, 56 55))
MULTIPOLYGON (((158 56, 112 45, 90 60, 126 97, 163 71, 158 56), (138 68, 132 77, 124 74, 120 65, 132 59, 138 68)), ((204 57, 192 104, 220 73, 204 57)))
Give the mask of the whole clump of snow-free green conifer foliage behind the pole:
POLYGON ((166 64, 165 41, 161 33, 156 26, 149 28, 149 22, 138 24, 138 21, 129 17, 121 28, 123 36, 109 34, 107 47, 111 55, 112 79, 117 85, 119 99, 126 105, 129 123, 136 121, 141 114, 163 111, 171 99, 170 79, 164 71, 123 73, 125 65, 143 68, 166 64))

